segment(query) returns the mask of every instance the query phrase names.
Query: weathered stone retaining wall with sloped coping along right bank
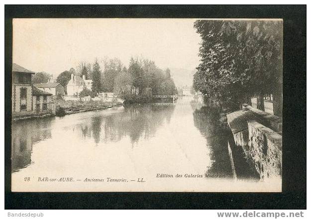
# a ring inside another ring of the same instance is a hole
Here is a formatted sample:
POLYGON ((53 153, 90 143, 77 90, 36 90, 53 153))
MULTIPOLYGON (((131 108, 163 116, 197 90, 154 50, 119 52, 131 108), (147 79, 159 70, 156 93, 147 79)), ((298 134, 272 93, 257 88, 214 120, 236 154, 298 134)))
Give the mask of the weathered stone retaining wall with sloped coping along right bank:
POLYGON ((250 157, 260 179, 282 177, 282 119, 243 104, 242 110, 227 114, 227 122, 234 139, 231 154, 237 154, 235 170, 241 164, 234 159, 250 157))

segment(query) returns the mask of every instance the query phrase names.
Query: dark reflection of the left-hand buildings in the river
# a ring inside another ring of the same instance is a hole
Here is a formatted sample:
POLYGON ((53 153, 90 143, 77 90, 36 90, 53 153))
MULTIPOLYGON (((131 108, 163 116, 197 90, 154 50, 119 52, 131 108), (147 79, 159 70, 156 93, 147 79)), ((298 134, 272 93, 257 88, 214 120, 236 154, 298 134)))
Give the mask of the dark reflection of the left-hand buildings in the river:
POLYGON ((32 145, 51 138, 51 123, 54 118, 24 120, 12 123, 12 172, 31 163, 32 145))

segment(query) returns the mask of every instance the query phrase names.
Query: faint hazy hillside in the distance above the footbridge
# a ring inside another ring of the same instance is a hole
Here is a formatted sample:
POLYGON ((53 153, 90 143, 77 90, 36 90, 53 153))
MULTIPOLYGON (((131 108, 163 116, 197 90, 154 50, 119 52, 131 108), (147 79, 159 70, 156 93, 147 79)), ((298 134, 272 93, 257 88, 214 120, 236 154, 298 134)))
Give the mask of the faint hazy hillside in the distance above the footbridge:
POLYGON ((183 87, 185 85, 192 86, 193 72, 195 70, 170 68, 171 77, 173 78, 177 87, 183 87))

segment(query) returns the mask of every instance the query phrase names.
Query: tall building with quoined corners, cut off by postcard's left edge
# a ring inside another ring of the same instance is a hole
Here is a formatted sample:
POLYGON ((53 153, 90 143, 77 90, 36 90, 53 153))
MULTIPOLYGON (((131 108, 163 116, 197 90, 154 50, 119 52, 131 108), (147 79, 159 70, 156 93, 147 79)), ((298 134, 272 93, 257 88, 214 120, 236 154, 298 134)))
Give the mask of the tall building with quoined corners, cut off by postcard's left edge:
POLYGON ((12 65, 12 113, 32 111, 32 74, 17 64, 12 65))

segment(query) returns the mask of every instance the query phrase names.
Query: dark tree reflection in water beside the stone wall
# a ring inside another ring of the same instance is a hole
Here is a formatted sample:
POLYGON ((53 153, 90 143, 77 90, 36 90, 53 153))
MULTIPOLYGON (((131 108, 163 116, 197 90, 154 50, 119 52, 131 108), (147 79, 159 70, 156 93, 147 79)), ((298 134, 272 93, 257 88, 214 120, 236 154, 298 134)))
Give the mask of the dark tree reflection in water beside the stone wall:
POLYGON ((194 124, 207 140, 211 164, 209 176, 232 177, 227 147, 227 131, 220 123, 220 110, 214 105, 192 102, 194 124))

